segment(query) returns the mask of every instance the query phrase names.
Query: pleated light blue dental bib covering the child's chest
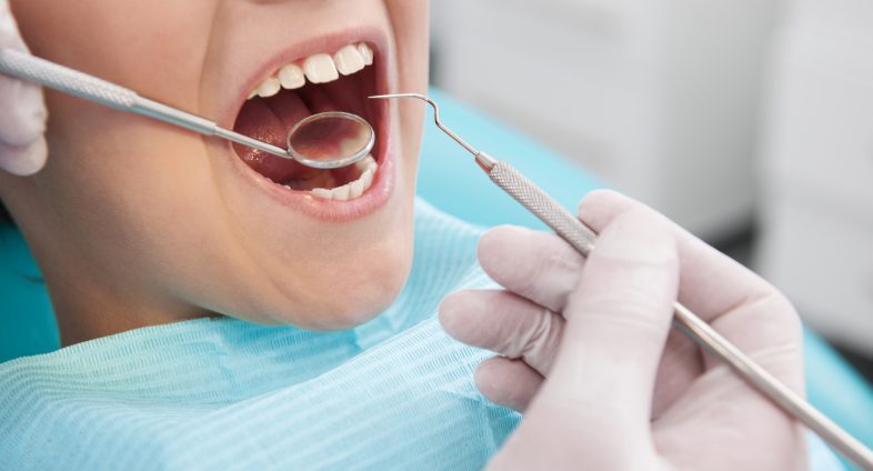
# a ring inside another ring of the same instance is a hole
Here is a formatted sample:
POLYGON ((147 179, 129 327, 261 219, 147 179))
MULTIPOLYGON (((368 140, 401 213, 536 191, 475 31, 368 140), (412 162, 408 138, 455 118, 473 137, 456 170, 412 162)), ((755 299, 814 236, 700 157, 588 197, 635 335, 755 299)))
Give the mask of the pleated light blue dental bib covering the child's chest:
POLYGON ((521 418, 473 384, 491 353, 434 318, 494 287, 480 236, 418 201, 410 280, 357 329, 201 319, 2 363, 0 469, 481 469, 521 418))

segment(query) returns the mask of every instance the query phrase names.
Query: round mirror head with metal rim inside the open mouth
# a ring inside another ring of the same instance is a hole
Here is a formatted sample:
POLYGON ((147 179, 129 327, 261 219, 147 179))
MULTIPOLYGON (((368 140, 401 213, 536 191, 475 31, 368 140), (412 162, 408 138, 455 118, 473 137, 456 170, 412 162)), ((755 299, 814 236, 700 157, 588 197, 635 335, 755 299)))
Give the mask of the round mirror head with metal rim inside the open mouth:
POLYGON ((288 133, 288 156, 313 169, 351 166, 369 156, 374 144, 370 123, 343 111, 312 114, 288 133))

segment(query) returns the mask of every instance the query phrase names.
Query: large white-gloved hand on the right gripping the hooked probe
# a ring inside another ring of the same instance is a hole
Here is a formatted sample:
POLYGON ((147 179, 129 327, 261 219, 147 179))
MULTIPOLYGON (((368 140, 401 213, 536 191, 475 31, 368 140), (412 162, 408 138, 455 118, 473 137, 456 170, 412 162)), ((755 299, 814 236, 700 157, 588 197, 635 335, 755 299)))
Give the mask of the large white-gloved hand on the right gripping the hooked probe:
POLYGON ((800 427, 684 334, 679 299, 795 391, 802 338, 770 284, 614 192, 580 204, 585 261, 556 236, 498 228, 479 247, 502 291, 450 295, 456 339, 501 353, 475 375, 523 411, 490 469, 805 469, 800 427))

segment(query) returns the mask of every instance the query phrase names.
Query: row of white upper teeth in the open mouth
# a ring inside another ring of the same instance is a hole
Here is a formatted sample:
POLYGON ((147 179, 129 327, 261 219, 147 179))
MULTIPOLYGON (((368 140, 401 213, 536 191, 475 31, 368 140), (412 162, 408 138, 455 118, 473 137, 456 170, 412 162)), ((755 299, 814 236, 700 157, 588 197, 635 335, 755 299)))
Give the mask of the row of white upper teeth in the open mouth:
POLYGON ((294 90, 311 83, 327 83, 340 78, 340 74, 351 76, 367 66, 373 63, 373 49, 365 42, 349 44, 341 48, 333 56, 319 53, 310 56, 302 61, 295 61, 281 67, 272 76, 265 78, 249 93, 249 99, 254 97, 272 97, 279 90, 294 90))

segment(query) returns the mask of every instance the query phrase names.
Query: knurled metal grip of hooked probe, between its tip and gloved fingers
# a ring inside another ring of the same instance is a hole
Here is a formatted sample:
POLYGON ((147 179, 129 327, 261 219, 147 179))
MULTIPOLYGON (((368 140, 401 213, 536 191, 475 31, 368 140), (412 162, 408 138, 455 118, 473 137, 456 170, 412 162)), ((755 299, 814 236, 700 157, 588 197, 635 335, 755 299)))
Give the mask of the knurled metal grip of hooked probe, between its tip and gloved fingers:
POLYGON ((534 182, 521 174, 509 163, 498 161, 489 170, 491 180, 509 193, 515 201, 545 222, 558 236, 566 240, 580 253, 588 257, 594 248, 596 234, 588 226, 571 214, 534 182))

